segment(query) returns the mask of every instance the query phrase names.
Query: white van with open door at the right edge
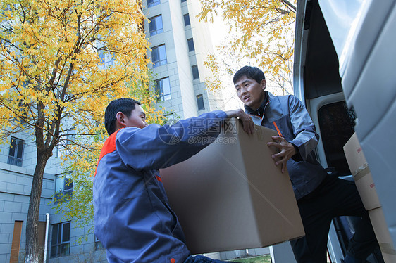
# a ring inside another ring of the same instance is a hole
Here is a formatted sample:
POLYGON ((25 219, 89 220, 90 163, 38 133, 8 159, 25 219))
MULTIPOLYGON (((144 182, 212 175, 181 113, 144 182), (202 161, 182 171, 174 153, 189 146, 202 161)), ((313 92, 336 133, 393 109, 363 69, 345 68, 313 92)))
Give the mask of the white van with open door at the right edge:
MULTIPOLYGON (((317 158, 346 179, 342 147, 354 132, 373 175, 396 248, 396 0, 299 0, 295 95, 321 135, 317 158)), ((352 219, 335 219, 332 262, 345 255, 352 219)), ((370 262, 378 262, 372 255, 370 262)))

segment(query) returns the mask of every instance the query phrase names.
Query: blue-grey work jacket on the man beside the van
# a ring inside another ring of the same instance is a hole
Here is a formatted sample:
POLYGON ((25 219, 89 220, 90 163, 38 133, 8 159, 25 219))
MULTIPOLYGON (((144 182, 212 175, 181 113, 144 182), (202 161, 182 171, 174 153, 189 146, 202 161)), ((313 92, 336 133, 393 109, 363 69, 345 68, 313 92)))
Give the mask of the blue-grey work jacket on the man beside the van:
MULTIPOLYGON (((268 92, 268 91, 266 91, 268 92)), ((246 113, 261 115, 259 123, 269 129, 279 130, 286 141, 297 146, 299 154, 287 161, 287 171, 297 200, 314 191, 326 177, 326 172, 314 156, 319 135, 302 102, 295 96, 273 96, 268 92, 257 113, 245 105, 246 113)), ((254 120, 254 119, 253 119, 254 120)))

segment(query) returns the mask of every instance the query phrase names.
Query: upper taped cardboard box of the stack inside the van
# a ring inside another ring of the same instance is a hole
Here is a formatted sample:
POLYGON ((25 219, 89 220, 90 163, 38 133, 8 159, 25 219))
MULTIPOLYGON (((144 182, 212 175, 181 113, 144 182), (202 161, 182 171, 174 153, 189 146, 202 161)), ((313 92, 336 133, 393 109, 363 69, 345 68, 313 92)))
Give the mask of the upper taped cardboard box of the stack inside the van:
POLYGON ((376 185, 356 134, 353 134, 349 141, 345 143, 344 152, 364 208, 372 210, 380 207, 376 185))

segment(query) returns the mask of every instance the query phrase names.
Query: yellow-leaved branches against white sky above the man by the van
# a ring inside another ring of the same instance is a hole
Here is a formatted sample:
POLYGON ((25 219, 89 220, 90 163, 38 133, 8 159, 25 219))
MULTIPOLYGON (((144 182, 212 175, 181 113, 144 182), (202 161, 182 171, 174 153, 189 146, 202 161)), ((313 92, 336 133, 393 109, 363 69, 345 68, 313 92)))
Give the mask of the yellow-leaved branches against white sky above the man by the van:
POLYGON ((254 61, 281 88, 291 86, 296 0, 200 1, 200 20, 213 23, 221 15, 229 29, 205 63, 214 72, 208 79, 211 89, 221 87, 219 76, 235 73, 241 60, 254 61))

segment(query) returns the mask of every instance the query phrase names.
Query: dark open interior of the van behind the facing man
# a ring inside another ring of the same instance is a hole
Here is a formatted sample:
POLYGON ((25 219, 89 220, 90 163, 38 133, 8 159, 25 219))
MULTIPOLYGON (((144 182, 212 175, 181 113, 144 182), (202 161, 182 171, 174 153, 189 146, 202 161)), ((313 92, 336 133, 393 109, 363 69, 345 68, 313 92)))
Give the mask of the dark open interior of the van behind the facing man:
MULTIPOLYGON (((321 136, 316 157, 323 167, 334 167, 340 177, 353 180, 343 146, 354 134, 356 114, 345 102, 338 55, 318 0, 297 1, 296 21, 295 95, 305 103, 321 136)), ((357 220, 354 217, 333 220, 328 237, 331 262, 340 262, 345 257, 357 220)), ((383 262, 379 249, 367 260, 383 262)))

